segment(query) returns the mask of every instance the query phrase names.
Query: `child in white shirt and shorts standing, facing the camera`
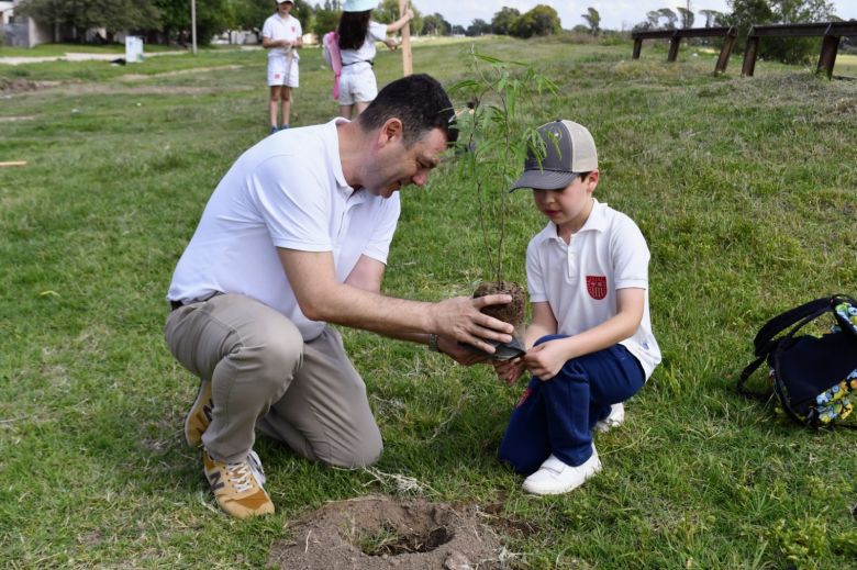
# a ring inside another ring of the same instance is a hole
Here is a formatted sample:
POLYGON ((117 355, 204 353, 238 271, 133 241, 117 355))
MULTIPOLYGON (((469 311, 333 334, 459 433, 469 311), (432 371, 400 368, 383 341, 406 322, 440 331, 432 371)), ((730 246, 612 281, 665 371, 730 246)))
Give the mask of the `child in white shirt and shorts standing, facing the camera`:
POLYGON ((282 126, 289 127, 291 90, 298 87, 298 48, 303 46, 300 20, 291 15, 292 0, 276 0, 277 13, 265 20, 261 27, 261 46, 268 51, 268 113, 270 132, 278 130, 278 111, 282 108, 282 126))

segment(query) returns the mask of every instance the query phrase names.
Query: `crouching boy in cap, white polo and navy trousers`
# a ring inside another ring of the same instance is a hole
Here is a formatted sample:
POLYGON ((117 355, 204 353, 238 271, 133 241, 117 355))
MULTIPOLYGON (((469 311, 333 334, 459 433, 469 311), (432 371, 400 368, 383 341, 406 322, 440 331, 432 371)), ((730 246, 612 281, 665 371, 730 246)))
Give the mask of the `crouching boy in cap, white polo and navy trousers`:
POLYGON ((542 125, 539 161, 531 152, 514 183, 532 188, 549 222, 527 246, 532 323, 527 353, 496 362, 512 384, 533 378, 500 444, 501 461, 528 474, 524 490, 566 493, 601 470, 592 429, 624 420, 622 402, 660 362, 648 314, 646 241, 625 214, 598 202, 592 135, 570 121, 542 125))

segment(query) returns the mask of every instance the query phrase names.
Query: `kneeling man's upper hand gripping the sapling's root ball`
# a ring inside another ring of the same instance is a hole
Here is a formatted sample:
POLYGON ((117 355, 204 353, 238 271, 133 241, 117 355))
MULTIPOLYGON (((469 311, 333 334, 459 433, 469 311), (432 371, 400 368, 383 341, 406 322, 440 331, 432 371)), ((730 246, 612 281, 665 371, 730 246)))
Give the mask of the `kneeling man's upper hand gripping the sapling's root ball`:
POLYGON ((494 347, 486 339, 511 343, 514 327, 499 318, 479 312, 483 306, 510 303, 508 294, 493 294, 470 299, 456 297, 441 301, 434 305, 434 331, 439 336, 454 338, 472 345, 488 354, 494 353, 494 347))

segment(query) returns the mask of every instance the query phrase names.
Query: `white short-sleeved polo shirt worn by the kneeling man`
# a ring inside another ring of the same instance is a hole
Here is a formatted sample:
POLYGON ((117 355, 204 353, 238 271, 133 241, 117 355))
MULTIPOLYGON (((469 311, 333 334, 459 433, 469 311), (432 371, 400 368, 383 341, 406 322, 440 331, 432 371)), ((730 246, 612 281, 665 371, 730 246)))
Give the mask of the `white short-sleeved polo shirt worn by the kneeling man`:
POLYGON ((386 264, 399 194, 356 192, 345 181, 335 119, 264 138, 245 152, 209 199, 172 275, 168 299, 243 293, 289 317, 311 340, 325 324, 298 308, 277 247, 331 252, 345 281, 361 255, 386 264))

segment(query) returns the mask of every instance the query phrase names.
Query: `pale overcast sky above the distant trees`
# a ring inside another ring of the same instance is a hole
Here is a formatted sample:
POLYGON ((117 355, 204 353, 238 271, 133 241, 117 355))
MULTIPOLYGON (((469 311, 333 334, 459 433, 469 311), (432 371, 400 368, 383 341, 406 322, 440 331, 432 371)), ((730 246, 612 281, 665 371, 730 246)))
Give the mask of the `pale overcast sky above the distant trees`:
MULTIPOLYGON (((631 30, 646 20, 646 13, 659 8, 681 7, 687 3, 676 0, 411 0, 422 14, 439 12, 453 25, 467 27, 477 18, 490 22, 503 7, 515 8, 521 13, 536 4, 548 4, 559 14, 563 27, 570 30, 586 24, 580 14, 587 8, 594 8, 601 14, 601 27, 610 30, 631 30)), ((857 0, 834 0, 836 15, 845 20, 857 18, 857 0)), ((697 16, 694 25, 704 25, 700 10, 727 12, 726 0, 691 0, 690 9, 697 16)))

